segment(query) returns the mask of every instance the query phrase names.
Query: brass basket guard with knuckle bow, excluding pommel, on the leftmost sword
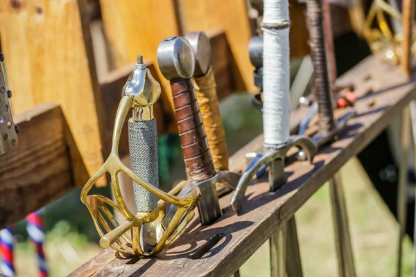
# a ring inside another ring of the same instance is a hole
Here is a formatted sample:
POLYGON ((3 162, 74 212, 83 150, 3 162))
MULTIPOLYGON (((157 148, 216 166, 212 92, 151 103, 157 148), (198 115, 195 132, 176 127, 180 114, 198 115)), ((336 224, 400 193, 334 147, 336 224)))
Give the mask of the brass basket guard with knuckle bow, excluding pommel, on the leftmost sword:
POLYGON ((198 204, 200 198, 199 188, 193 188, 187 195, 177 197, 177 193, 181 187, 184 186, 182 182, 179 187, 175 187, 171 192, 164 193, 164 191, 155 188, 144 179, 137 176, 130 168, 126 167, 119 157, 119 141, 123 123, 132 108, 133 97, 123 96, 117 109, 116 120, 114 123, 114 131, 112 136, 112 150, 110 156, 107 158, 103 166, 92 176, 85 184, 81 191, 81 201, 87 206, 89 213, 91 213, 94 224, 101 236, 100 244, 102 247, 112 247, 112 249, 121 253, 128 253, 133 255, 151 256, 159 253, 172 242, 174 242, 181 233, 185 230, 185 226, 193 217, 193 208, 198 204), (111 176, 112 191, 116 202, 103 197, 102 195, 88 195, 92 186, 108 172, 111 176), (133 215, 127 208, 123 196, 121 195, 119 179, 117 177, 119 172, 124 172, 137 184, 148 190, 150 193, 159 198, 157 208, 150 213, 137 213, 133 215), (173 216, 170 224, 164 228, 160 222, 166 213, 166 204, 177 206, 177 212, 173 216), (126 218, 126 222, 119 224, 112 215, 108 206, 119 211, 121 215, 126 218), (106 219, 107 218, 107 219, 106 219), (143 224, 155 224, 158 232, 157 244, 150 252, 145 252, 141 245, 141 226, 143 224), (130 230, 130 234, 127 232, 130 230))

